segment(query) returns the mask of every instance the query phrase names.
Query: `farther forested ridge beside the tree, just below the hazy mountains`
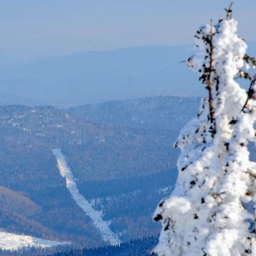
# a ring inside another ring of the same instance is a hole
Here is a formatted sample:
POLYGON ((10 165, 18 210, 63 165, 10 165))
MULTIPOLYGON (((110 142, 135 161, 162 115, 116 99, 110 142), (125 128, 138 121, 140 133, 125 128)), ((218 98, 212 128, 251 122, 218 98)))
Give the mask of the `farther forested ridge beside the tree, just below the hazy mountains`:
POLYGON ((96 123, 179 132, 184 123, 196 116, 199 104, 200 98, 158 96, 81 105, 68 111, 96 123))

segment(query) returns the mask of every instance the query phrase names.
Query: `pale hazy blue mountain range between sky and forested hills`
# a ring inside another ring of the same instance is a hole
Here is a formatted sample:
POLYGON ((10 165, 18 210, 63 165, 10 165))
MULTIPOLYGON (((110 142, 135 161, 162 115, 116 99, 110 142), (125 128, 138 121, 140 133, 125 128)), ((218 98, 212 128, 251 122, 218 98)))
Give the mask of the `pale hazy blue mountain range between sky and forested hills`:
POLYGON ((142 46, 0 66, 0 93, 57 107, 156 95, 202 95, 189 46, 142 46))

